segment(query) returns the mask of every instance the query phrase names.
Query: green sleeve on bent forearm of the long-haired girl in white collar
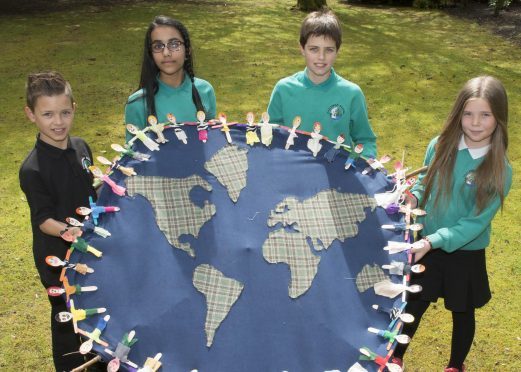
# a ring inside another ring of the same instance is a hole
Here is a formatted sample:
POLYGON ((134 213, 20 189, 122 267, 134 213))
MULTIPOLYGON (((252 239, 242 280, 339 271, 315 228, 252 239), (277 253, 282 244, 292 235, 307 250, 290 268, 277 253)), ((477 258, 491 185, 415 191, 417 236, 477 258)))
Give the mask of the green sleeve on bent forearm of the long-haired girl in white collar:
MULTIPOLYGON (((512 186, 512 169, 509 167, 505 180, 505 197, 512 186)), ((472 211, 468 216, 462 217, 451 227, 444 227, 437 230, 434 234, 428 235, 433 248, 441 248, 445 252, 454 252, 476 239, 486 229, 490 228, 490 223, 501 206, 499 195, 481 211, 475 214, 472 211)), ((485 248, 485 247, 483 247, 485 248)))

